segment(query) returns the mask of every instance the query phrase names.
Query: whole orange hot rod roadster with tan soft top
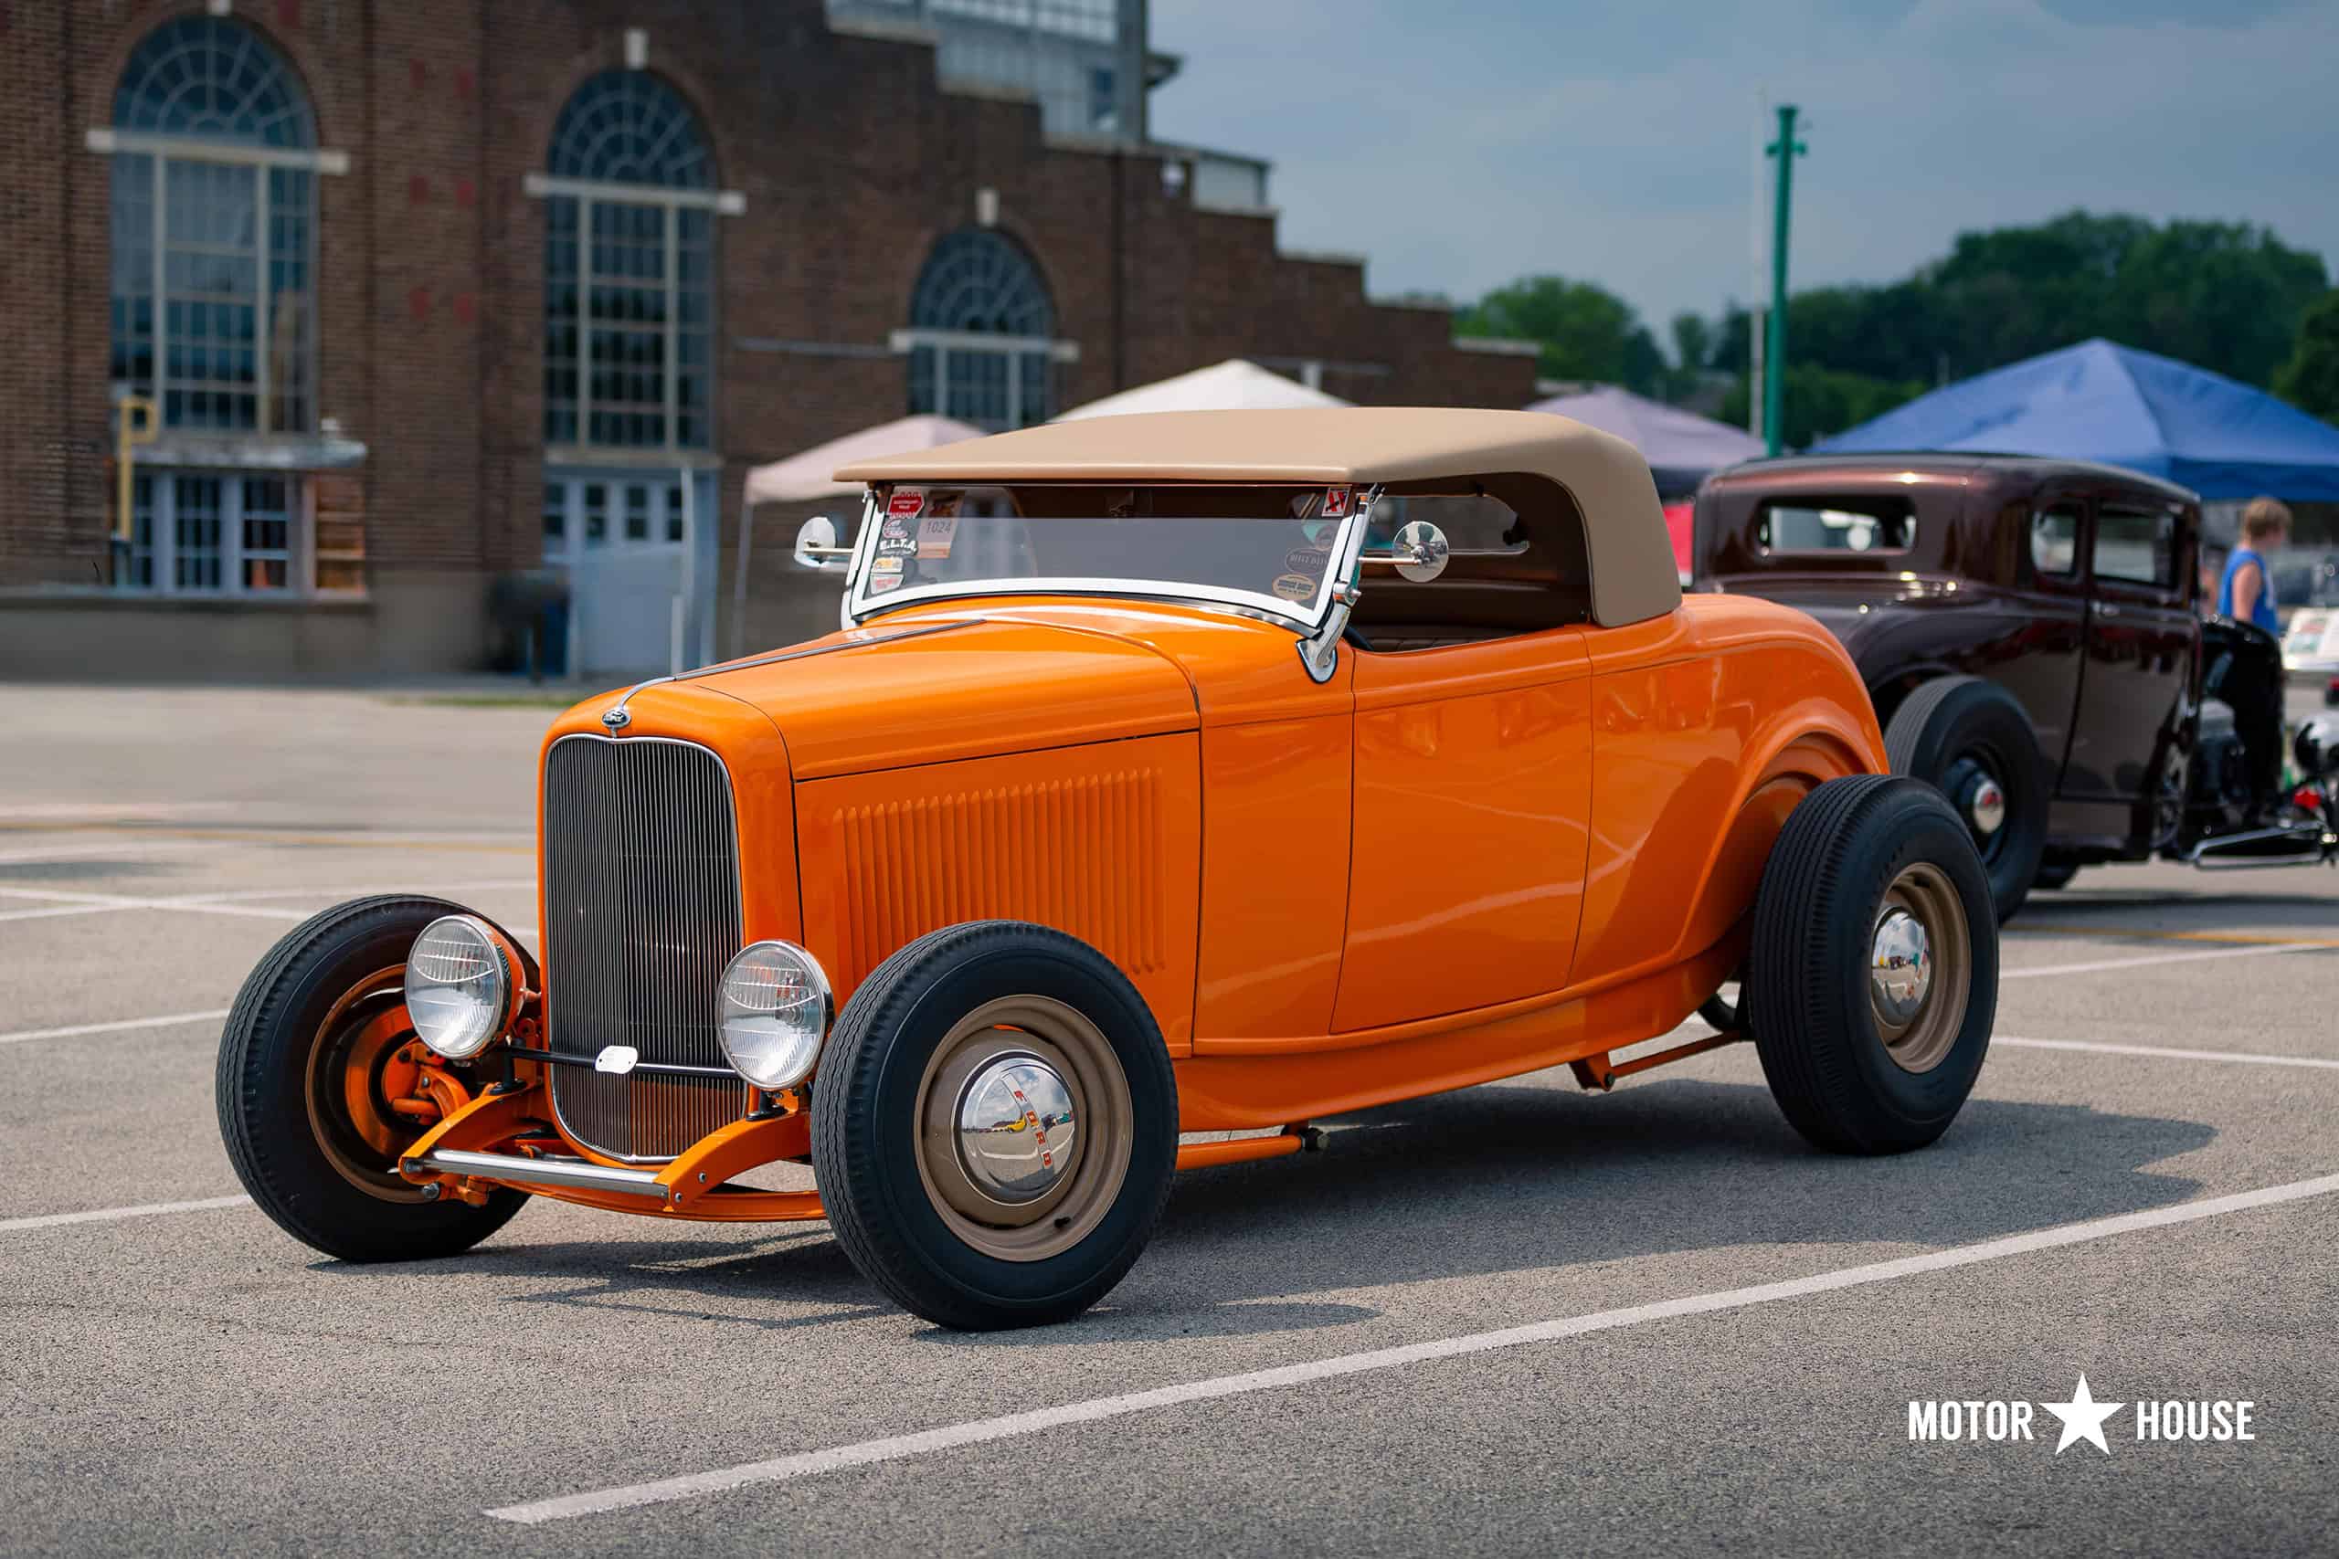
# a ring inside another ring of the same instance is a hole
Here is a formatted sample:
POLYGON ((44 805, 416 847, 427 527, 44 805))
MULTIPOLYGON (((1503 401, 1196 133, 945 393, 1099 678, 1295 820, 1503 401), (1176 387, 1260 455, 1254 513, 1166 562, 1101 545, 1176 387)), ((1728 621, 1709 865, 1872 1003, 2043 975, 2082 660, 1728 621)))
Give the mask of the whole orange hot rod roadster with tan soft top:
POLYGON ((1366 1106, 1745 1038, 1822 1148, 1965 1103, 1965 825, 1883 774, 1834 636, 1682 598, 1628 444, 1223 411, 840 477, 856 538, 798 542, 837 633, 547 732, 543 963, 377 898, 246 982, 220 1124, 297 1239, 444 1255, 529 1194, 828 1218, 908 1309, 999 1328, 1102 1297, 1177 1169, 1366 1106), (1619 1054, 1733 979, 1724 1033, 1619 1054), (741 1180, 777 1162, 819 1190, 741 1180))

